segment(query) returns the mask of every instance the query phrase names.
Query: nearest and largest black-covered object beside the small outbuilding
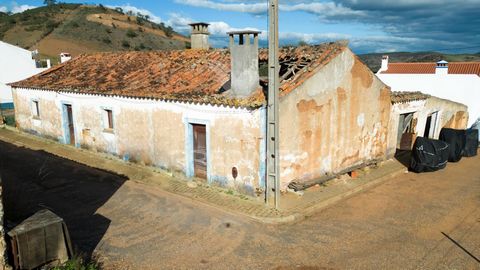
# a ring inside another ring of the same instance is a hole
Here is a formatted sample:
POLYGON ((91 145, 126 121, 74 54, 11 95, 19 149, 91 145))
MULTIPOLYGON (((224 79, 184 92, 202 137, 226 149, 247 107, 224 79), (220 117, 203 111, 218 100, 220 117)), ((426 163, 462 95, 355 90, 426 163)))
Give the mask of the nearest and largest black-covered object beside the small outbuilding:
POLYGON ((446 142, 417 137, 413 144, 410 170, 433 172, 445 168, 448 162, 448 148, 446 142))

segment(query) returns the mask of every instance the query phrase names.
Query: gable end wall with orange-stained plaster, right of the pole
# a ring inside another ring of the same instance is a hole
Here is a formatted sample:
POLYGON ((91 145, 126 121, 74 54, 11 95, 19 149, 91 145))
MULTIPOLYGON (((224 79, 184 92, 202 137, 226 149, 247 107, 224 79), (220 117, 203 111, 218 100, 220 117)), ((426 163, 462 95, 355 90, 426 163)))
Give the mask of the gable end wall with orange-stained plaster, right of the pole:
POLYGON ((390 90, 346 49, 281 98, 282 188, 384 159, 390 90))

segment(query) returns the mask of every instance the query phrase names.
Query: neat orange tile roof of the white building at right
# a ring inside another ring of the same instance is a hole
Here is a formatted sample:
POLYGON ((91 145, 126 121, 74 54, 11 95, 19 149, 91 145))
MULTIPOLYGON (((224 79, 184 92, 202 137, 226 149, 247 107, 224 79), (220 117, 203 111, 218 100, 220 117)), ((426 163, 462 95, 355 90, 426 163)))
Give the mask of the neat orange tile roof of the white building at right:
MULTIPOLYGON (((436 63, 388 63, 382 74, 434 74, 436 63)), ((451 62, 448 74, 477 74, 480 76, 480 62, 451 62)))

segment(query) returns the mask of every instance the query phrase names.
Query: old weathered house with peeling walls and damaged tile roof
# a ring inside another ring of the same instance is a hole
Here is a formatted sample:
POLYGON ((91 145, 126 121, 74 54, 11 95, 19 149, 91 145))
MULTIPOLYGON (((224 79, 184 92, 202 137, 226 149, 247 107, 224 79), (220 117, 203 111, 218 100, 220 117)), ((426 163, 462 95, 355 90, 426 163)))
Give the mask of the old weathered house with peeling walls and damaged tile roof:
MULTIPOLYGON (((12 84, 17 126, 262 194, 268 53, 257 32, 230 37, 230 50, 73 58, 12 84)), ((391 157, 390 90, 345 44, 283 48, 280 65, 282 189, 391 157)))

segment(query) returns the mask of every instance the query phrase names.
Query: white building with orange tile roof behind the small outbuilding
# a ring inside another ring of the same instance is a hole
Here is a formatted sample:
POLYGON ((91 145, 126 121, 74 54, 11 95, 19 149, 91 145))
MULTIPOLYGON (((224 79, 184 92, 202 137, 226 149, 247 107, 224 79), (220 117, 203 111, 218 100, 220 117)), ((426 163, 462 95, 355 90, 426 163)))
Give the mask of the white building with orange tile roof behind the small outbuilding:
POLYGON ((384 56, 377 76, 392 91, 420 91, 467 105, 469 126, 480 119, 480 62, 389 63, 384 56))

